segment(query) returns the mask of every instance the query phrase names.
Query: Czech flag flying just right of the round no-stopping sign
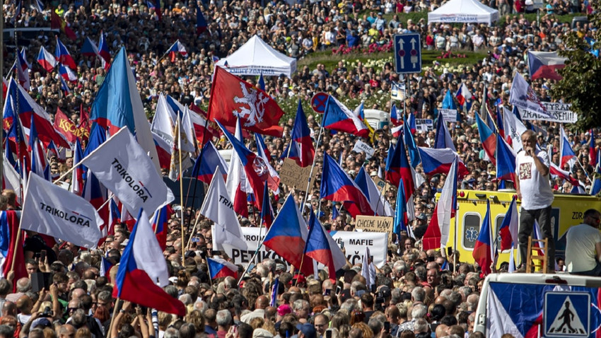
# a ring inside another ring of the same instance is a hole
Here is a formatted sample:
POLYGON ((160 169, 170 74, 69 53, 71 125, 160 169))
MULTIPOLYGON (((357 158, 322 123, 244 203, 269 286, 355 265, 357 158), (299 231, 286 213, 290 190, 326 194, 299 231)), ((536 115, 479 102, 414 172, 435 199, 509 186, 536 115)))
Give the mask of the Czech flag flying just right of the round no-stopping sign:
POLYGON ((369 129, 359 117, 332 95, 327 98, 322 127, 368 138, 369 129))

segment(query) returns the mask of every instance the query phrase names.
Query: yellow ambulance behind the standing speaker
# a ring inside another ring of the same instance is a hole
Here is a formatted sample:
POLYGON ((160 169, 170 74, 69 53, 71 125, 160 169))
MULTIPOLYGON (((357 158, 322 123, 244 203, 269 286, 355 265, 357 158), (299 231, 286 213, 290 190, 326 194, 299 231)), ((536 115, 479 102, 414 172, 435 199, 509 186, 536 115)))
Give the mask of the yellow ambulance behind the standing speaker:
MULTIPOLYGON (((461 262, 473 263, 472 251, 486 214, 486 201, 491 205, 491 227, 493 233, 503 223, 503 218, 515 195, 515 190, 477 191, 457 190, 457 221, 451 218, 450 234, 446 247, 453 247, 460 252, 461 262), (455 247, 455 226, 457 228, 457 247, 455 247)), ((518 213, 520 211, 520 200, 518 213)), ((555 239, 555 256, 565 257, 566 232, 571 226, 582 222, 583 214, 588 209, 601 210, 601 198, 582 194, 555 194, 552 204, 551 227, 555 239)), ((518 264, 518 250, 515 247, 515 260, 518 264)), ((510 250, 501 252, 496 267, 502 262, 509 262, 510 250)))

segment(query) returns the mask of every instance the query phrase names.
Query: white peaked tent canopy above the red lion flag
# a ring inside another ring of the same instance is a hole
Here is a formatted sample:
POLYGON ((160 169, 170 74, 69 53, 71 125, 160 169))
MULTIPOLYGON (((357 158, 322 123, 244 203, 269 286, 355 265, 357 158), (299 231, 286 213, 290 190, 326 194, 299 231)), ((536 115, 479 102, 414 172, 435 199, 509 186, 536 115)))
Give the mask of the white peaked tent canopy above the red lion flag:
POLYGON ((253 35, 240 49, 216 64, 235 75, 284 74, 290 78, 296 71, 296 59, 276 51, 257 35, 253 35))

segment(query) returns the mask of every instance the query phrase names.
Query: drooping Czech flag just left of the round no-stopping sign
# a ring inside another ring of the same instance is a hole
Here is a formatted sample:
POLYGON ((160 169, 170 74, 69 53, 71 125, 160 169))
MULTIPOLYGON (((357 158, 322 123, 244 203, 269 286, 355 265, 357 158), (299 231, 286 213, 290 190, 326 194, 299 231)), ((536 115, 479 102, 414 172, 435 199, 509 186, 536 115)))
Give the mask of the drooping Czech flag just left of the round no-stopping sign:
POLYGON ((313 139, 311 139, 307 117, 300 99, 296 108, 296 118, 292 127, 290 145, 284 150, 284 157, 293 159, 302 168, 312 165, 313 158, 315 157, 313 139))

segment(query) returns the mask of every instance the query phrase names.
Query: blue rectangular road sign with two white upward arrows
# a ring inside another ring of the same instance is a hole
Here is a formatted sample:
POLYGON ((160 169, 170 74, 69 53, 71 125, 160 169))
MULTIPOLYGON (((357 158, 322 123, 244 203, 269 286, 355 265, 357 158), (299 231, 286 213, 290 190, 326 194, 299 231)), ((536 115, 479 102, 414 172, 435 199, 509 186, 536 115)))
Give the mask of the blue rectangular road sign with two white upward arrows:
POLYGON ((395 35, 395 70, 397 74, 421 73, 419 34, 395 35))

